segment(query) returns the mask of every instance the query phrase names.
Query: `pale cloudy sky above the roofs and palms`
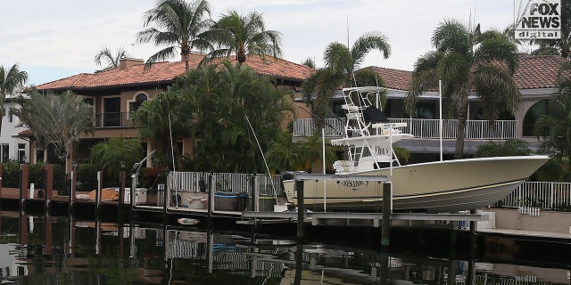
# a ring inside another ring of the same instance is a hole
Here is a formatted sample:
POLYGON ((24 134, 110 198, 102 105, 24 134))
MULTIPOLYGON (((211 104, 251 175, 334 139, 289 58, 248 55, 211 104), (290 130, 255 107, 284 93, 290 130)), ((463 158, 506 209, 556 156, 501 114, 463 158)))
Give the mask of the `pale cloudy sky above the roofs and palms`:
MULTIPOLYGON (((301 63, 312 58, 323 66, 332 42, 350 46, 361 35, 379 31, 392 53, 384 59, 368 53, 360 68, 412 70, 419 56, 433 49, 430 37, 443 20, 483 30, 503 29, 514 20, 514 0, 209 0, 211 18, 236 10, 261 12, 266 29, 282 34, 283 58, 301 63)), ((0 65, 17 63, 28 72, 28 85, 40 85, 79 73, 92 73, 95 55, 108 47, 148 59, 165 46, 140 44, 144 14, 156 0, 19 0, 0 9, 0 65)), ((525 49, 525 47, 524 47, 525 49)), ((179 56, 170 61, 178 61, 179 56)))

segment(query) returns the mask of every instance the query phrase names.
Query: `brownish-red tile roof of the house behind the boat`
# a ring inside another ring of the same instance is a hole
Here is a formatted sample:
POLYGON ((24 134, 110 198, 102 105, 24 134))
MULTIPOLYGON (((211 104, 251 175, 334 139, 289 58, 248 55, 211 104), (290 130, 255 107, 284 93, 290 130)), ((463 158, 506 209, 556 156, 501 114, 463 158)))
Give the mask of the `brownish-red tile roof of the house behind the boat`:
MULTIPOLYGON (((553 88, 556 85, 561 64, 567 61, 567 59, 555 55, 521 54, 519 68, 514 75, 514 80, 519 89, 553 88)), ((381 67, 368 67, 366 69, 377 72, 385 81, 387 88, 409 90, 412 78, 411 71, 381 67)))

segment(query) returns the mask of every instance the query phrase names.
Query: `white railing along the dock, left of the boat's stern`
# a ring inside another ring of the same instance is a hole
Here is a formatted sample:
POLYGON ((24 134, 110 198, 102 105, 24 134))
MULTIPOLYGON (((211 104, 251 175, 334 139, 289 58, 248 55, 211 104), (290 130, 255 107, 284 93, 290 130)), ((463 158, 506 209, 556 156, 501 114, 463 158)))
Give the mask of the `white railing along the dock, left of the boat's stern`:
POLYGON ((270 178, 264 174, 210 173, 210 172, 170 172, 169 181, 172 190, 177 191, 222 191, 241 193, 252 191, 252 186, 260 194, 278 195, 281 175, 270 178), (252 180, 252 178, 255 178, 252 180), (272 185, 273 182, 273 185, 272 185))

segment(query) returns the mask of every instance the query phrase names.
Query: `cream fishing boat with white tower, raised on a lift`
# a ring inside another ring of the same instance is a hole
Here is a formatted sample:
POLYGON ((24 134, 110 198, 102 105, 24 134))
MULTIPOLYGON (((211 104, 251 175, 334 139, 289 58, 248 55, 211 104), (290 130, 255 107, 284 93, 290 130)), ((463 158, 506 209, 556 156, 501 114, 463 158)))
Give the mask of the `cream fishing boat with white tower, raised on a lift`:
MULTIPOLYGON (((343 89, 346 110, 343 138, 333 145, 346 149, 346 159, 335 161, 335 175, 349 179, 303 180, 303 204, 317 211, 378 212, 382 208, 383 183, 352 180, 352 175, 386 175, 392 185, 396 211, 452 213, 492 205, 505 198, 550 159, 529 155, 453 159, 401 165, 393 143, 412 139, 406 123, 391 123, 371 103, 383 88, 343 89)), ((295 173, 282 175, 285 198, 297 206, 295 173)))

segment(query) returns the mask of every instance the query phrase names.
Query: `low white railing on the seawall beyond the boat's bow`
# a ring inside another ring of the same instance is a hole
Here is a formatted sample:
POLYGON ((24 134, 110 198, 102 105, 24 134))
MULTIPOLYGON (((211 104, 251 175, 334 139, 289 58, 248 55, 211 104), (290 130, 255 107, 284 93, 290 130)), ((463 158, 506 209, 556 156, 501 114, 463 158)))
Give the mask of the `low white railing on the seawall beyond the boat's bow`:
POLYGON ((560 209, 571 207, 571 183, 525 182, 501 199, 504 207, 560 209))

